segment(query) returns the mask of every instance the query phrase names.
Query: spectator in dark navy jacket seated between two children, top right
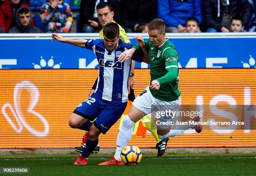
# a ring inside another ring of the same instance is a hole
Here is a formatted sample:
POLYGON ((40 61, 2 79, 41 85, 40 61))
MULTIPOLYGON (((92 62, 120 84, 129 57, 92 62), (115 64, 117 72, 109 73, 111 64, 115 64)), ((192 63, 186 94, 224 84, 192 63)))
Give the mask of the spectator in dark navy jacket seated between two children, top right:
POLYGON ((243 14, 245 25, 252 15, 252 6, 248 0, 203 0, 203 21, 207 32, 229 32, 233 17, 243 14))

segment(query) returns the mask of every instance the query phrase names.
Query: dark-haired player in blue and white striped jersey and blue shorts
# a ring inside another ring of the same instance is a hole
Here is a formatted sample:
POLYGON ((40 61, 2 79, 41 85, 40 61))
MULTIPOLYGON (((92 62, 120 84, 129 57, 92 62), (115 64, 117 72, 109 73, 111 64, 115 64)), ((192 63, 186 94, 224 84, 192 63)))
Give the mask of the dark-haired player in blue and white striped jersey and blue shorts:
MULTIPOLYGON (((104 40, 72 40, 59 34, 52 34, 52 40, 68 43, 92 50, 99 63, 99 76, 95 93, 78 105, 69 119, 69 126, 89 131, 86 145, 74 162, 75 165, 87 164, 87 159, 98 144, 98 136, 105 134, 121 117, 128 101, 128 76, 131 60, 119 62, 119 55, 132 47, 120 40, 119 27, 108 23, 103 30, 104 40), (95 118, 97 119, 91 123, 95 118)), ((141 62, 142 57, 132 59, 141 62)), ((120 164, 123 164, 120 161, 120 164)))

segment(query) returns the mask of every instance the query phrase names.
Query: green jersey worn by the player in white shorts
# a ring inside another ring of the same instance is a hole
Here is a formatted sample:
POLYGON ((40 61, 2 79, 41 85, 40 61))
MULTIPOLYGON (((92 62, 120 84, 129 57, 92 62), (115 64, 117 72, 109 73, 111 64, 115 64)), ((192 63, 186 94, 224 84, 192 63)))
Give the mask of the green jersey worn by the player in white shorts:
MULTIPOLYGON (((150 89, 151 94, 162 101, 172 102, 180 96, 178 89, 179 83, 179 55, 172 42, 168 39, 164 44, 155 47, 149 40, 145 41, 149 52, 151 82, 156 80, 160 84, 159 90, 150 89)), ((141 47, 136 44, 133 46, 136 52, 143 53, 141 47)))

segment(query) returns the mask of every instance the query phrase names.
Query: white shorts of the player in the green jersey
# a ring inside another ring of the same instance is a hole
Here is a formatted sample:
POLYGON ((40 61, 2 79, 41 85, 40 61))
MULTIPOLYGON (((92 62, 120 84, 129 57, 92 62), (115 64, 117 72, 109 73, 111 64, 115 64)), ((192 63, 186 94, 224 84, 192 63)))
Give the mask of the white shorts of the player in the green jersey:
MULTIPOLYGON (((151 94, 149 87, 146 87, 145 90, 143 90, 143 92, 141 93, 141 95, 139 95, 138 97, 136 97, 136 99, 133 101, 133 106, 135 106, 136 108, 140 109, 142 112, 144 112, 145 114, 150 114, 151 112, 154 111, 158 111, 158 112, 166 112, 167 111, 179 111, 179 99, 174 100, 172 102, 165 102, 165 101, 161 101, 159 99, 156 99, 155 97, 153 97, 153 95, 151 94), (143 93, 145 92, 145 93, 143 93)), ((154 113, 151 114, 151 117, 153 117, 154 113)), ((156 114, 156 113, 155 113, 156 114)), ((154 118, 154 117, 153 117, 154 118)), ((159 117, 158 120, 160 121, 174 121, 174 120, 179 120, 180 117, 172 117, 172 119, 170 119, 169 117, 166 116, 161 116, 159 117)), ((161 129, 167 129, 171 126, 171 124, 169 125, 158 125, 161 129)))

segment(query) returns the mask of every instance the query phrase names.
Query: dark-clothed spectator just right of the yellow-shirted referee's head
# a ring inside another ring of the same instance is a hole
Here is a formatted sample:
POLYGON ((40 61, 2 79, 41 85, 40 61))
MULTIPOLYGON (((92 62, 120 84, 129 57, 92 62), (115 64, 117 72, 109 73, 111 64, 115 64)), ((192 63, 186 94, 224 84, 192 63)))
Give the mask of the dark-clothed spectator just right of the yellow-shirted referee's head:
POLYGON ((157 17, 157 0, 120 0, 121 25, 126 32, 138 32, 137 27, 157 17))

